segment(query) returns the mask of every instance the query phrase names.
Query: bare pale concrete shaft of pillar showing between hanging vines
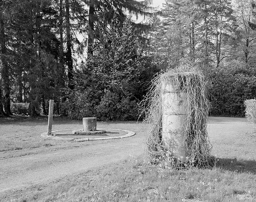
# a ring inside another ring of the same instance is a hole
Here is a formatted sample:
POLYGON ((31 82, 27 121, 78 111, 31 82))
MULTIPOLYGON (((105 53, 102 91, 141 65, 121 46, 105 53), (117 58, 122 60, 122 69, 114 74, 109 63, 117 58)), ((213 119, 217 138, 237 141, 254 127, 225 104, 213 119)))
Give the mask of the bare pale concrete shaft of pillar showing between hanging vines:
POLYGON ((175 157, 184 163, 186 148, 184 135, 187 120, 187 103, 184 93, 177 93, 172 84, 162 81, 162 143, 173 149, 175 157))

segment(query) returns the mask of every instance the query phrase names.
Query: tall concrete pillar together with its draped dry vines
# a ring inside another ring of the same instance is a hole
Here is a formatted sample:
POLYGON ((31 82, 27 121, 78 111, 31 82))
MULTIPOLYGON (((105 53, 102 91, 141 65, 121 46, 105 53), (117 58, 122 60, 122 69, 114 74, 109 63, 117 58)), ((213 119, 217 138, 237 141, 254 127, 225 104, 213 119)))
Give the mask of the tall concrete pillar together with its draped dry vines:
POLYGON ((151 124, 148 153, 173 166, 209 165, 208 99, 204 76, 193 69, 157 75, 142 106, 151 124))

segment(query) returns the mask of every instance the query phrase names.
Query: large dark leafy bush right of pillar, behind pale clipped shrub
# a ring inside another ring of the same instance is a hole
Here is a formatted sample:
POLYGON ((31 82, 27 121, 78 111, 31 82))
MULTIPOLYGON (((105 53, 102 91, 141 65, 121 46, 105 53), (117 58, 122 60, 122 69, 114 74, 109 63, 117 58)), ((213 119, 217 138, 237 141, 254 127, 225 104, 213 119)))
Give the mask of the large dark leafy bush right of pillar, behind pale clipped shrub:
POLYGON ((248 65, 212 69, 208 78, 211 115, 244 116, 244 101, 256 97, 255 73, 248 65))

